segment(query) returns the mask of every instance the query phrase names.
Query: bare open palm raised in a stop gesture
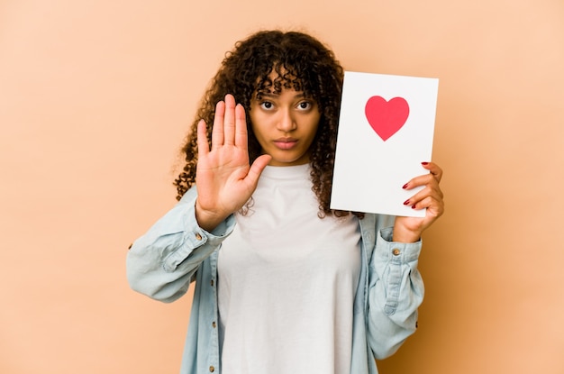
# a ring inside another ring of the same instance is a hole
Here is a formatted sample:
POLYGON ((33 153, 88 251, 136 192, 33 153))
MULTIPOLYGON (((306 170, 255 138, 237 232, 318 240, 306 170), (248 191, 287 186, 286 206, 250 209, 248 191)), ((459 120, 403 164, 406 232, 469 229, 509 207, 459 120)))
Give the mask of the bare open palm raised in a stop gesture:
POLYGON ((211 232, 229 214, 249 201, 270 156, 259 156, 250 166, 247 123, 242 105, 226 95, 215 107, 210 150, 205 121, 197 125, 196 220, 211 232))

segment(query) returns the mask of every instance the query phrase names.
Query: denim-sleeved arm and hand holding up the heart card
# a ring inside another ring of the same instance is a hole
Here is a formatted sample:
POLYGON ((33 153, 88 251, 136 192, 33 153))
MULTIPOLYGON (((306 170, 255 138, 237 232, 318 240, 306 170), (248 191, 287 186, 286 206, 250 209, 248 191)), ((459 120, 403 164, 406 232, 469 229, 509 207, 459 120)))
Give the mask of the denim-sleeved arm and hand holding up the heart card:
POLYGON ((368 342, 377 359, 397 351, 415 332, 417 308, 423 302, 423 279, 417 269, 421 235, 444 212, 439 183, 442 169, 422 162, 428 174, 407 182, 405 189, 423 187, 405 201, 414 209, 425 208, 424 217, 396 217, 394 227, 381 229, 368 265, 368 342))

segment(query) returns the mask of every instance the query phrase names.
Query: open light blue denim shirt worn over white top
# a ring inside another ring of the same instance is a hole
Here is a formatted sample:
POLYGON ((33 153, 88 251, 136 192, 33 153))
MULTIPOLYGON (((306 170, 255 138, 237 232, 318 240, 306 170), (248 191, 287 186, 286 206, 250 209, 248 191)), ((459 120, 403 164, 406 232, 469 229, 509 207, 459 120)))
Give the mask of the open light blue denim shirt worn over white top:
MULTIPOLYGON (((196 223, 196 188, 136 240, 127 256, 130 286, 172 302, 196 289, 182 360, 182 374, 221 373, 217 308, 217 257, 235 226, 233 216, 207 233, 196 223)), ((417 270, 421 242, 391 242, 394 217, 366 214, 359 220, 362 256, 354 301, 350 372, 376 374, 374 359, 397 351, 414 333, 423 280, 417 270)), ((299 369, 296 368, 296 372, 299 369)))

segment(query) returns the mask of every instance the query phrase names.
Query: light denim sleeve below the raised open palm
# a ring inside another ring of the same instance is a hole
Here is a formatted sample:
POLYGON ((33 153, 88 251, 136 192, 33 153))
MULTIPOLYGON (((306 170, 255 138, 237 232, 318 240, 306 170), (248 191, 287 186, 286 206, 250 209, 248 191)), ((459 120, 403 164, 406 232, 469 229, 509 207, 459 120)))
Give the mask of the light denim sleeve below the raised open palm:
POLYGON ((200 264, 232 233, 234 217, 207 233, 196 222, 196 187, 133 242, 127 279, 133 290, 163 302, 186 294, 200 264))

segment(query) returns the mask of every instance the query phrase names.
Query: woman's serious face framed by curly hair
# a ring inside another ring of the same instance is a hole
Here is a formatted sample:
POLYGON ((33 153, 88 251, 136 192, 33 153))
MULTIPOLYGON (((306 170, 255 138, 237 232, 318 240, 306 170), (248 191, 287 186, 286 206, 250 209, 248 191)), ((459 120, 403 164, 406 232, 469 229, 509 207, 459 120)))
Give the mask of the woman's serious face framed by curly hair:
POLYGON ((284 88, 279 94, 261 94, 250 101, 250 122, 262 152, 272 156, 271 166, 309 162, 321 114, 313 99, 284 88))

